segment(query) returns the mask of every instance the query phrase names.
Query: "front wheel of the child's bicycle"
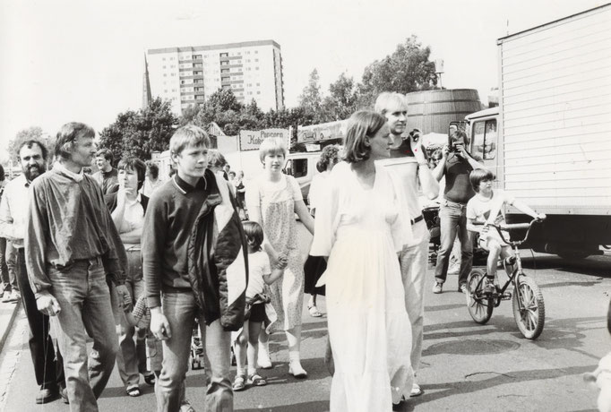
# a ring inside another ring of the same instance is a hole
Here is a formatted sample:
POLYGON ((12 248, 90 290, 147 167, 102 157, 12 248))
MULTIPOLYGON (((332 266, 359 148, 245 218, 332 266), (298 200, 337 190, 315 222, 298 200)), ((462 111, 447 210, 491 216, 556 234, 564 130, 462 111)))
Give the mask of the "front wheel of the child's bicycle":
POLYGON ((535 280, 520 276, 513 291, 513 317, 526 339, 537 339, 546 322, 546 305, 535 280))

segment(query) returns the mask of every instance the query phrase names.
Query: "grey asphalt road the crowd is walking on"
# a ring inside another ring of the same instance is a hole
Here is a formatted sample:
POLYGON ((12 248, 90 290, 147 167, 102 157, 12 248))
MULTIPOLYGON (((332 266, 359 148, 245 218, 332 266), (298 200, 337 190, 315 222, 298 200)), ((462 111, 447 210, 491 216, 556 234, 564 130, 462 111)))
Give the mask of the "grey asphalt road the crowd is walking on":
MULTIPOLYGON (((306 251, 307 236, 302 241, 306 251)), ((596 390, 582 373, 593 371, 611 349, 607 305, 611 289, 611 255, 566 262, 558 257, 523 251, 529 276, 540 286, 546 304, 546 326, 536 341, 521 338, 511 302, 495 309, 486 325, 469 317, 465 296, 454 292, 456 277, 447 289, 426 292, 423 365, 418 375, 425 394, 410 399, 399 410, 595 410, 596 390)), ((433 270, 429 270, 430 285, 433 270)), ((324 312, 324 300, 320 300, 324 312)), ((303 365, 309 373, 298 381, 288 375, 288 352, 280 335, 271 341, 273 368, 262 371, 269 384, 249 388, 235 397, 239 411, 317 412, 329 408, 331 377, 323 365, 325 318, 311 318, 304 310, 303 365)), ((65 411, 61 401, 34 404, 37 388, 27 347, 23 314, 0 356, 0 410, 65 411), (4 384, 3 384, 4 380, 4 384)), ((203 373, 187 374, 187 398, 196 410, 203 399, 203 373)), ((142 383, 143 395, 128 398, 115 372, 99 399, 100 410, 155 410, 152 388, 142 383)))

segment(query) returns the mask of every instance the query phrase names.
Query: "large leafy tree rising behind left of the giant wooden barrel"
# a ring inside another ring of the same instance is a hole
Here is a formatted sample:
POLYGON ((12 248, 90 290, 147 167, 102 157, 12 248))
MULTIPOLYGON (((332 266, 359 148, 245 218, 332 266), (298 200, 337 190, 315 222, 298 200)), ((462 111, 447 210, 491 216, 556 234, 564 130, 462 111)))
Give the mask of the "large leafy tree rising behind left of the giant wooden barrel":
POLYGON ((406 94, 435 89, 435 63, 428 60, 430 47, 422 47, 416 36, 397 46, 391 56, 369 64, 359 88, 360 104, 369 105, 383 91, 406 94))

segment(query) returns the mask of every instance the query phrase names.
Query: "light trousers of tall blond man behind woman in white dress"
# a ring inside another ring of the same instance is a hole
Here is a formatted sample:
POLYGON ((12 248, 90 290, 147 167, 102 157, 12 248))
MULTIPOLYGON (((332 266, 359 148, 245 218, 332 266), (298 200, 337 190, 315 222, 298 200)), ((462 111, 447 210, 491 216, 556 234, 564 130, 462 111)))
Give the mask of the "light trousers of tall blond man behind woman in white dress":
POLYGON ((403 246, 400 253, 401 279, 405 288, 405 308, 411 323, 411 367, 416 373, 425 336, 425 280, 428 242, 431 238, 424 220, 413 227, 416 242, 403 246))

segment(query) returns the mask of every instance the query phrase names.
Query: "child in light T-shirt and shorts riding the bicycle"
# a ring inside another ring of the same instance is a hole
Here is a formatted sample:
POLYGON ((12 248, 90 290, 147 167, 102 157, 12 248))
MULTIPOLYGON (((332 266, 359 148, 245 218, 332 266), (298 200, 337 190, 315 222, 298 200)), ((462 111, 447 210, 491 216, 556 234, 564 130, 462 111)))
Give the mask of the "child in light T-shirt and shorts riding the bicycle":
MULTIPOLYGON (((489 277, 495 277, 495 286, 498 287, 496 275, 496 262, 499 257, 503 259, 512 255, 510 245, 503 241, 497 230, 490 226, 498 226, 505 223, 505 212, 503 206, 511 205, 534 219, 546 219, 546 215, 532 210, 526 203, 515 199, 511 194, 503 190, 492 189, 495 174, 483 168, 473 170, 469 180, 476 195, 467 203, 467 230, 479 234, 478 245, 488 251, 486 270, 489 277), (476 223, 479 226, 476 226, 476 223), (483 226, 481 226, 483 225, 483 226)), ((503 231, 503 237, 509 239, 509 234, 503 231)))

